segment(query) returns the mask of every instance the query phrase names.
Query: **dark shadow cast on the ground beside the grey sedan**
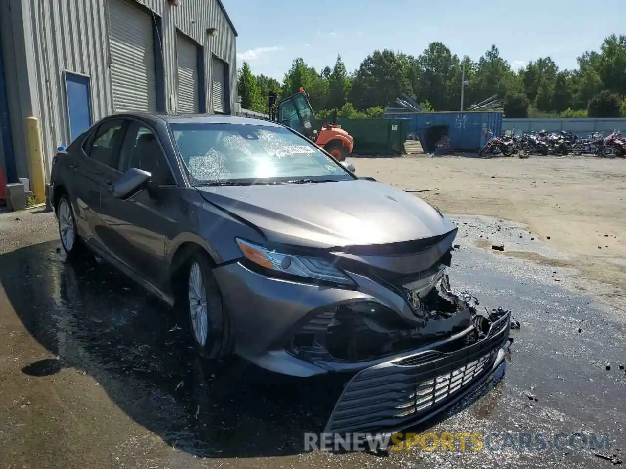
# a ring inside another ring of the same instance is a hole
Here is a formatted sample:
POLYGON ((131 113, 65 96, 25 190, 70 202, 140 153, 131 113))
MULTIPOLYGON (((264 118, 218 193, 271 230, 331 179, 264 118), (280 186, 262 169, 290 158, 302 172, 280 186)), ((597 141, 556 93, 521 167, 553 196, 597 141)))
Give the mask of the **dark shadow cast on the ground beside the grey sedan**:
MULTIPOLYGON (((0 256, 11 303, 4 306, 58 356, 30 363, 23 373, 46 379, 73 368, 93 376, 133 420, 195 456, 297 454, 305 432, 323 430, 343 381, 287 378, 236 358, 200 363, 174 311, 104 263, 69 262, 58 246, 0 256)), ((471 405, 498 379, 445 416, 471 405)))

